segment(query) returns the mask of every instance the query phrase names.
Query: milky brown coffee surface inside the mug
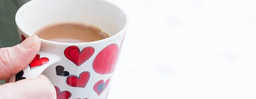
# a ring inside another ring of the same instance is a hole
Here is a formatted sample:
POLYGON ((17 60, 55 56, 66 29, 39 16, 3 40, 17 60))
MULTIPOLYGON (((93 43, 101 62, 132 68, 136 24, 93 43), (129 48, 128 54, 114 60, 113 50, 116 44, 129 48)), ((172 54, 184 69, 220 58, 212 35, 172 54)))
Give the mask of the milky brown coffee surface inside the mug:
POLYGON ((82 23, 56 23, 47 25, 34 33, 39 38, 62 43, 99 41, 109 35, 97 27, 82 23))

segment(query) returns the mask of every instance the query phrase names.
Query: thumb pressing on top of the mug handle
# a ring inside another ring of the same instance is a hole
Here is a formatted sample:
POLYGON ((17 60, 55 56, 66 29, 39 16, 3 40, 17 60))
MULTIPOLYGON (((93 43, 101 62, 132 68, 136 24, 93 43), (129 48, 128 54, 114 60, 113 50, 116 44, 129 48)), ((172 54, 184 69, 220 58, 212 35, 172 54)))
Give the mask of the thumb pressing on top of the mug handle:
POLYGON ((38 36, 30 36, 21 44, 0 49, 0 80, 17 74, 35 58, 41 46, 38 36))

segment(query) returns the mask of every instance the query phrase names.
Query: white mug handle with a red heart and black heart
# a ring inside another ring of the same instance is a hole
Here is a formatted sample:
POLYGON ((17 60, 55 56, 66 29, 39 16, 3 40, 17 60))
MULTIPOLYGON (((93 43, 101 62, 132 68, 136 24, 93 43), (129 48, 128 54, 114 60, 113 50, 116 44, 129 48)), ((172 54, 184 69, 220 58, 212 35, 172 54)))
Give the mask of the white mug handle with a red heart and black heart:
POLYGON ((58 55, 39 51, 29 65, 19 73, 12 75, 9 82, 17 82, 28 78, 37 78, 47 67, 61 60, 58 55))

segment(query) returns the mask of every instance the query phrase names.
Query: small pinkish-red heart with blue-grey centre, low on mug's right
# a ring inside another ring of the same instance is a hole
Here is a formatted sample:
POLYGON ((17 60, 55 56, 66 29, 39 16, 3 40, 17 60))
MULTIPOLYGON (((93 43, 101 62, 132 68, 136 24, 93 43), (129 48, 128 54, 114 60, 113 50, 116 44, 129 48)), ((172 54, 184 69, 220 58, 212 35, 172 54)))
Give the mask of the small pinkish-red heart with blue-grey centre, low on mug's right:
POLYGON ((104 80, 99 80, 98 82, 96 82, 96 84, 94 84, 93 86, 93 90, 100 95, 108 86, 110 79, 108 79, 105 83, 104 80))

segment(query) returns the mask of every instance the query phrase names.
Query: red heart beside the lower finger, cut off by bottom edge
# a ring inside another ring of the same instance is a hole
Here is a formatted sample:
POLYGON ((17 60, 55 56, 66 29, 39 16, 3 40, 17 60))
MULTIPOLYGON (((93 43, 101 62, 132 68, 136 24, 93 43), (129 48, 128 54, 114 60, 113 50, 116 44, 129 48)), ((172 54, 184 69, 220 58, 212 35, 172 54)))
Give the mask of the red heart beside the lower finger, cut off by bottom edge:
POLYGON ((62 91, 60 90, 60 88, 55 87, 56 90, 56 94, 57 94, 57 99, 68 99, 71 97, 71 93, 69 91, 62 91))

